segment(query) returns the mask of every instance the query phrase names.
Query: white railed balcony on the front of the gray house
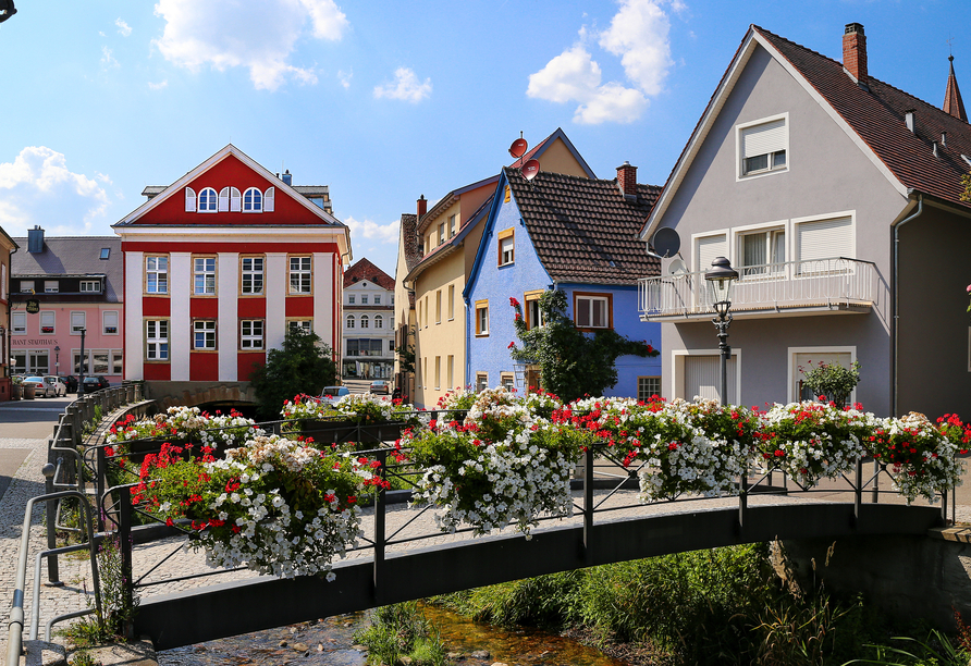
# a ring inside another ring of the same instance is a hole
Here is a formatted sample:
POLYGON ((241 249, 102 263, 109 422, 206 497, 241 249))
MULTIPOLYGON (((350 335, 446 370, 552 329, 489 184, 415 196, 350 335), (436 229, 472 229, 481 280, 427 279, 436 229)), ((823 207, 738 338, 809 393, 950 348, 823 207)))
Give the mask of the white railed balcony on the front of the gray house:
MULTIPOLYGON (((736 319, 866 313, 876 295, 872 261, 836 257, 736 270, 736 319)), ((638 309, 641 321, 710 319, 714 308, 704 271, 639 280, 638 309)))

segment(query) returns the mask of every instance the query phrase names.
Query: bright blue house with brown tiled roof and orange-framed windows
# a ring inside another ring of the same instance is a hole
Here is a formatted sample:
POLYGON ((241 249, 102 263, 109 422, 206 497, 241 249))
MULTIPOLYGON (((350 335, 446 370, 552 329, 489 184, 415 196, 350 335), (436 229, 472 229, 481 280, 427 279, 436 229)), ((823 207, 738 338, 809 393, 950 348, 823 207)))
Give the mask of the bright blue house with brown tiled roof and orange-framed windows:
MULTIPOLYGON (((513 361, 518 342, 509 298, 523 304, 529 328, 541 325, 538 299, 548 289, 567 296, 577 328, 614 329, 661 347, 661 328, 640 320, 637 281, 660 274, 660 262, 638 238, 661 190, 637 184, 625 163, 617 178, 580 178, 541 171, 527 181, 503 169, 478 254, 463 292, 466 304, 466 377, 478 390, 500 384, 524 391, 539 384, 537 371, 513 361)), ((613 396, 661 393, 661 358, 617 359, 613 396)))

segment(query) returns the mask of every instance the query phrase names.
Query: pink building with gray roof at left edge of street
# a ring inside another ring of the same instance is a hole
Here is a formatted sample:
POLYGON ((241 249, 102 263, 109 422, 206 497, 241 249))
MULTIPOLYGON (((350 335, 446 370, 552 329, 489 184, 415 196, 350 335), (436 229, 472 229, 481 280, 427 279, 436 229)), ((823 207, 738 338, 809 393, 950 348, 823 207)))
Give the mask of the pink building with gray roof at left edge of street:
POLYGON ((20 249, 11 256, 13 372, 77 375, 84 363, 85 375, 101 374, 112 384, 121 383, 121 240, 45 238, 39 226, 27 233, 26 238, 14 238, 20 249))

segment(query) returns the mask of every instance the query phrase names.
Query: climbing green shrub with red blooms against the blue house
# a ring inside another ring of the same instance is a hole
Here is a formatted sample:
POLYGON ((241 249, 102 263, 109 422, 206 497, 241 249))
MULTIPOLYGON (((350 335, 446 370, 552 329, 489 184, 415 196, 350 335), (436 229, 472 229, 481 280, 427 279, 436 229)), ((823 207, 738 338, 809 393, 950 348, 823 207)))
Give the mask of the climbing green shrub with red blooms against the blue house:
POLYGON ((560 289, 540 296, 541 326, 527 329, 519 301, 509 298, 509 305, 516 310, 516 334, 523 342, 523 347, 509 343, 513 358, 538 365, 543 388, 565 402, 603 395, 605 388, 615 385, 617 357, 660 354, 646 341, 630 340, 613 329, 592 334, 577 330, 566 316, 566 293, 560 289))

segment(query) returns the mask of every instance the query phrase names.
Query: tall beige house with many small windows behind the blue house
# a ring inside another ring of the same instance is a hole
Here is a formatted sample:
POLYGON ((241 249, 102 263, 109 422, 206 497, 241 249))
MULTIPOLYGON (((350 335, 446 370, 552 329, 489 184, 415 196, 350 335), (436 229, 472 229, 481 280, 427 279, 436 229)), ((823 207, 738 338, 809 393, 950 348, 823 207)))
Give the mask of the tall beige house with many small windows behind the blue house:
MULTIPOLYGON (((556 130, 513 163, 530 159, 542 171, 595 177, 563 130, 556 130)), ((462 291, 482 236, 499 174, 450 192, 431 209, 422 196, 416 214, 402 215, 395 271, 395 321, 398 348, 414 348, 414 372, 402 355, 396 385, 415 405, 431 408, 446 392, 469 384, 466 312, 462 291)))

